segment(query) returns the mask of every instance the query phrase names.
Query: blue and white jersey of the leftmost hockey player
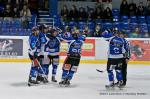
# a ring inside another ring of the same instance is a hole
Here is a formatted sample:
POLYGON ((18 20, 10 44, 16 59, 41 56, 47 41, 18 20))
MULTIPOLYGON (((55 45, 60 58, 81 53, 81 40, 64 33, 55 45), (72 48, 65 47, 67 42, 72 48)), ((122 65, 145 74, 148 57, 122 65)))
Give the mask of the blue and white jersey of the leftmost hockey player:
POLYGON ((38 46, 38 36, 34 36, 33 34, 31 34, 29 36, 29 50, 28 53, 30 55, 34 55, 34 52, 36 52, 37 50, 37 46, 38 46))

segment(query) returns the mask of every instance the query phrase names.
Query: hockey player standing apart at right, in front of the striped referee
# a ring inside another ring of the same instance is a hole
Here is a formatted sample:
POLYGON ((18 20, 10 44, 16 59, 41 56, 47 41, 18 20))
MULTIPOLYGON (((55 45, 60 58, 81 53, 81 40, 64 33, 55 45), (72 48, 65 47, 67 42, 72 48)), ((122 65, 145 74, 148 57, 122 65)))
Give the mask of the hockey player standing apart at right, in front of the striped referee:
POLYGON ((115 29, 113 31, 114 36, 109 39, 108 49, 108 61, 107 61, 107 72, 109 78, 109 85, 106 88, 113 88, 115 86, 113 70, 116 71, 116 78, 118 80, 118 87, 123 88, 122 78, 122 64, 124 53, 126 52, 125 41, 119 37, 119 31, 115 29))

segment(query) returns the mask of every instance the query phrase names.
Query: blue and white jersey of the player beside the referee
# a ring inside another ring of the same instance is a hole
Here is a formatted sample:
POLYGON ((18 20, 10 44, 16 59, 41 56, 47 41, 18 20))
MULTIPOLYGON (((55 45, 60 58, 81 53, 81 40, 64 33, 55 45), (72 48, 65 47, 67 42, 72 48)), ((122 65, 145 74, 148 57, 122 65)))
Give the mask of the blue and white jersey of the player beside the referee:
POLYGON ((117 36, 111 37, 109 40, 108 58, 124 58, 125 53, 124 39, 117 36))

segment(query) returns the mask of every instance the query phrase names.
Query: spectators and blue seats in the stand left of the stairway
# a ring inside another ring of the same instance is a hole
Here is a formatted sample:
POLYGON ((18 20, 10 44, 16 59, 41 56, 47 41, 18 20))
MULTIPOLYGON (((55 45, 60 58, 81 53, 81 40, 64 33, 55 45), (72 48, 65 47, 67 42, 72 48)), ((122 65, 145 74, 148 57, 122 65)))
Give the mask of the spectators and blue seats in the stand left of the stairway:
POLYGON ((0 0, 1 35, 27 35, 37 15, 37 0, 0 0))

